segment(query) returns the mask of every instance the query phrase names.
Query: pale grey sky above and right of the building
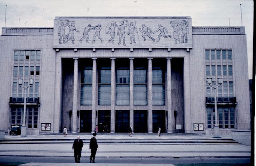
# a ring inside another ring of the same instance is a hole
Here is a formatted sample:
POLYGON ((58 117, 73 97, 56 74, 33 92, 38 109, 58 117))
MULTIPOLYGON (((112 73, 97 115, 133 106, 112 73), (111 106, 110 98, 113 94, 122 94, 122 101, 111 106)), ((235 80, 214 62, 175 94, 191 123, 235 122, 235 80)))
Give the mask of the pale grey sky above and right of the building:
POLYGON ((190 16, 192 26, 241 26, 240 4, 252 79, 252 0, 0 0, 0 26, 53 27, 56 16, 190 16))

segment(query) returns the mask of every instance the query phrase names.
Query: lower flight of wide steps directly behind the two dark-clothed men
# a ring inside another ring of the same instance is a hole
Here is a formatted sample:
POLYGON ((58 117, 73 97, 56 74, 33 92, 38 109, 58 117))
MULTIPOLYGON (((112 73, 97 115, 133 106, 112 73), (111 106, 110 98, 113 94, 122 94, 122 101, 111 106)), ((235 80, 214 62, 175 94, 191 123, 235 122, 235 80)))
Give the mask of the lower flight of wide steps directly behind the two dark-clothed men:
MULTIPOLYGON (((0 144, 73 144, 74 139, 5 138, 0 144)), ((89 144, 90 140, 83 140, 89 144)), ((232 139, 98 139, 98 144, 240 144, 232 139)))

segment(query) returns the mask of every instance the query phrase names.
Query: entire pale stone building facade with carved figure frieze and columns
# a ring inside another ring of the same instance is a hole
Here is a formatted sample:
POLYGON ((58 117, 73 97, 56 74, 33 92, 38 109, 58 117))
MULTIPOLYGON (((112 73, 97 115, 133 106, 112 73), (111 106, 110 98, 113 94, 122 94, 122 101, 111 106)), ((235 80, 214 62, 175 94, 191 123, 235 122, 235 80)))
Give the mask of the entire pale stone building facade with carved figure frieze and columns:
POLYGON ((244 27, 192 27, 180 17, 56 17, 54 27, 2 28, 0 130, 28 134, 250 128, 244 27))

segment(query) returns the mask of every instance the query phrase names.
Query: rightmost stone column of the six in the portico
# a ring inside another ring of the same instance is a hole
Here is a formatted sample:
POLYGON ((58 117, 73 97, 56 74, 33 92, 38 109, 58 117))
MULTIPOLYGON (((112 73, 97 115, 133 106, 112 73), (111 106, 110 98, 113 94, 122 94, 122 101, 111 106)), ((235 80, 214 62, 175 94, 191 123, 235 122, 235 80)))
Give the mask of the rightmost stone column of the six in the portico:
POLYGON ((167 68, 166 68, 166 91, 167 91, 167 132, 172 132, 172 84, 171 84, 171 59, 167 58, 167 68))

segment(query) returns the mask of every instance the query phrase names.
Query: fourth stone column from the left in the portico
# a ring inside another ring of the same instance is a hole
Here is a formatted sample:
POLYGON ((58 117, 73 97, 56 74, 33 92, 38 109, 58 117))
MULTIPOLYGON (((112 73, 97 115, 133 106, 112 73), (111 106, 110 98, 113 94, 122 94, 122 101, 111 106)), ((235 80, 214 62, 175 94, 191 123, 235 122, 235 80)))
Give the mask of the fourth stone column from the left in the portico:
POLYGON ((134 121, 133 121, 133 59, 130 59, 130 127, 132 127, 132 131, 134 130, 134 121))

